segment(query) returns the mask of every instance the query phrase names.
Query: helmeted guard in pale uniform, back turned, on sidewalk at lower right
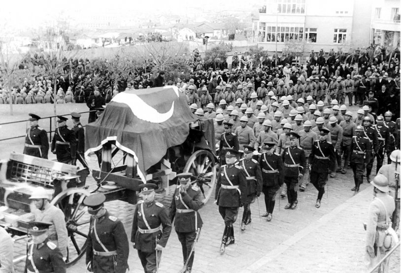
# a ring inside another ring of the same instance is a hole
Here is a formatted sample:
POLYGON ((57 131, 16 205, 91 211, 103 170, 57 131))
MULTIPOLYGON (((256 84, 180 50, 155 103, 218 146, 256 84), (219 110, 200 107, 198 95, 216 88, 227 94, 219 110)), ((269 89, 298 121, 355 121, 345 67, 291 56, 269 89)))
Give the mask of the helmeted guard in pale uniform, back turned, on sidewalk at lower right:
MULTIPOLYGON (((389 182, 387 178, 378 174, 370 182, 373 185, 374 199, 370 203, 368 221, 366 225, 366 254, 370 260, 369 270, 377 265, 395 242, 386 241, 386 231, 390 226, 395 210, 394 198, 389 196, 389 182)), ((378 272, 388 272, 389 258, 379 265, 378 272)))

